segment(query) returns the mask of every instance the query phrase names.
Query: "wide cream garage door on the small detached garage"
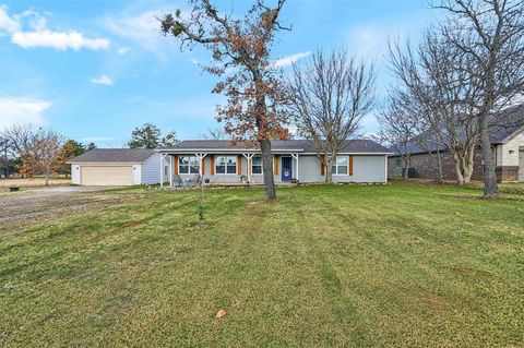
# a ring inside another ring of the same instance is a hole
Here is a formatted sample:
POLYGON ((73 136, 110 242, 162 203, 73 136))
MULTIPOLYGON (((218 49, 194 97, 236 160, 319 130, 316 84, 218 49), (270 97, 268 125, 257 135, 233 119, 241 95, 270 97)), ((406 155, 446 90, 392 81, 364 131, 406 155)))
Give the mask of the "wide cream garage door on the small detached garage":
POLYGON ((87 187, 133 184, 133 166, 82 166, 80 180, 87 187))

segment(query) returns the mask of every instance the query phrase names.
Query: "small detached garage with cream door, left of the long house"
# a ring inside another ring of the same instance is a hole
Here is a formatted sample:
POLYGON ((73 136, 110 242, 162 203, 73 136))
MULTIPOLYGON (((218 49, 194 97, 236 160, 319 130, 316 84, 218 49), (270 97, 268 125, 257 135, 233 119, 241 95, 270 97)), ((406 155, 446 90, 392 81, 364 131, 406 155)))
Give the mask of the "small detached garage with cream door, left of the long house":
MULTIPOLYGON (((160 182, 160 157, 154 149, 95 148, 68 161, 71 183, 135 185, 160 182)), ((168 172, 166 167, 165 172, 168 172)))

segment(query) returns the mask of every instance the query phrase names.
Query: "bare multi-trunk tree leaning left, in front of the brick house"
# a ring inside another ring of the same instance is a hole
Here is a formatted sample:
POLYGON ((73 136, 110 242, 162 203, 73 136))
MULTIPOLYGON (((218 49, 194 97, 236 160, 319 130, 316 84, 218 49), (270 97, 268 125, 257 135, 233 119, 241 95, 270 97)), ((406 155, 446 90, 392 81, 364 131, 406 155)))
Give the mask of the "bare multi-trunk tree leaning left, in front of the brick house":
POLYGON ((416 51, 409 43, 390 44, 390 64, 405 98, 415 104, 413 109, 424 120, 426 131, 417 141, 431 156, 436 153, 439 157, 440 172, 438 151, 441 146, 448 149, 454 159, 457 182, 468 183, 478 141, 474 109, 468 104, 478 94, 478 87, 465 74, 468 61, 428 31, 416 51))

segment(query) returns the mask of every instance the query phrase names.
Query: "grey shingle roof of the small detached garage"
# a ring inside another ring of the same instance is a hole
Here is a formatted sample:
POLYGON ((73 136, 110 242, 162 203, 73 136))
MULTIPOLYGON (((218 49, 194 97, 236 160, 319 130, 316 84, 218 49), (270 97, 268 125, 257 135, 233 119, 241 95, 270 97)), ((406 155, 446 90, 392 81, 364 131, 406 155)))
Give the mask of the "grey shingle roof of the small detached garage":
POLYGON ((94 148, 83 155, 74 157, 69 163, 79 161, 128 161, 128 163, 143 163, 155 151, 152 148, 94 148))

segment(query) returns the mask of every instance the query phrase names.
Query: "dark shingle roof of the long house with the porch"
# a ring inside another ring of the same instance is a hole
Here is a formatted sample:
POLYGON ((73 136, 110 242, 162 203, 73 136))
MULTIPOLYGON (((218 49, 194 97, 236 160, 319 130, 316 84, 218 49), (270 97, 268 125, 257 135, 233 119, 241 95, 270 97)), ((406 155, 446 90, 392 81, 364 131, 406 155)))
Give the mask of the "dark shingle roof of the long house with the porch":
MULTIPOLYGON (((313 143, 308 140, 288 140, 288 141, 271 141, 273 151, 301 151, 303 153, 315 153, 313 143)), ((243 143, 237 142, 235 145, 227 140, 188 140, 176 144, 169 148, 163 149, 250 149, 253 146, 246 146, 243 143)), ((386 147, 371 140, 347 140, 343 143, 341 153, 391 153, 386 147)))

